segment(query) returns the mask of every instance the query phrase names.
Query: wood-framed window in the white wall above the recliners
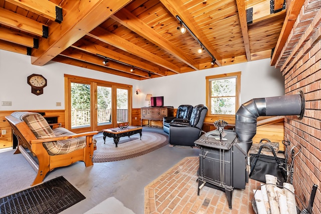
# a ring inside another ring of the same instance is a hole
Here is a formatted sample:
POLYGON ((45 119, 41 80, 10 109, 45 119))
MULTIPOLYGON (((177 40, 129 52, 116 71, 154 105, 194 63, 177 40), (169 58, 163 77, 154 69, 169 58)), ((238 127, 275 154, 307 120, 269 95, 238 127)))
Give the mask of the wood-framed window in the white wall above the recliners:
POLYGON ((239 108, 241 72, 207 76, 209 115, 235 115, 239 108))

